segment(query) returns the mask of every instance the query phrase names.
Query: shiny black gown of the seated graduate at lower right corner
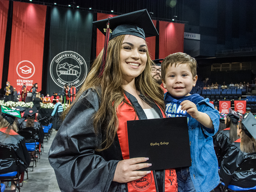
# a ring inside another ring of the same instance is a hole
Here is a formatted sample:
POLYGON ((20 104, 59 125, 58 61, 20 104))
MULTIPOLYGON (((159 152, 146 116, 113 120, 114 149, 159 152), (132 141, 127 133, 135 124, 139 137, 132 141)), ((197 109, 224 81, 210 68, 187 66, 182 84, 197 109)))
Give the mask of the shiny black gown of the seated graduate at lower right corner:
POLYGON ((256 152, 248 154, 242 152, 240 149, 240 143, 231 143, 228 152, 225 155, 220 166, 220 180, 225 183, 225 185, 236 185, 243 188, 250 188, 256 185, 256 171, 253 172, 237 172, 236 169, 241 165, 244 159, 256 156, 256 152))

